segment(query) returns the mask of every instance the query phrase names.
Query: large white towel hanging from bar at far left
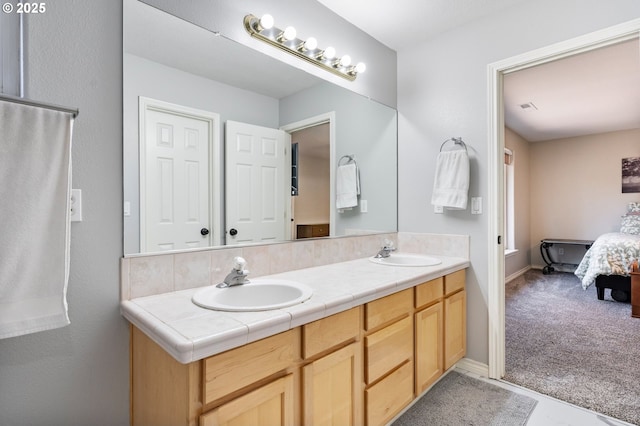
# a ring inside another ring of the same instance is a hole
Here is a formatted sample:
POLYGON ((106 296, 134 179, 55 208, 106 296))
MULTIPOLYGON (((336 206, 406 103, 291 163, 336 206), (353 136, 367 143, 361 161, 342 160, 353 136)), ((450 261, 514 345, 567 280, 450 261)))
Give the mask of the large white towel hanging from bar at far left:
POLYGON ((69 324, 71 114, 0 101, 0 338, 69 324))

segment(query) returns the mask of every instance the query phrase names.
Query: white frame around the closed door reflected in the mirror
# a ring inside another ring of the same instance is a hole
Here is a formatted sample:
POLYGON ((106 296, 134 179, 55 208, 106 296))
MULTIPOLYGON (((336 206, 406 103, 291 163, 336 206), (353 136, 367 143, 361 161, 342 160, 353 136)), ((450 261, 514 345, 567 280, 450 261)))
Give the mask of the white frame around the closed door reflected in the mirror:
POLYGON ((211 111, 186 107, 157 99, 138 97, 138 167, 139 167, 139 198, 140 198, 140 252, 146 251, 146 112, 157 111, 166 114, 179 115, 196 120, 206 121, 209 125, 209 229, 211 235, 209 247, 221 244, 221 203, 222 189, 221 173, 222 159, 220 156, 220 114, 211 111))

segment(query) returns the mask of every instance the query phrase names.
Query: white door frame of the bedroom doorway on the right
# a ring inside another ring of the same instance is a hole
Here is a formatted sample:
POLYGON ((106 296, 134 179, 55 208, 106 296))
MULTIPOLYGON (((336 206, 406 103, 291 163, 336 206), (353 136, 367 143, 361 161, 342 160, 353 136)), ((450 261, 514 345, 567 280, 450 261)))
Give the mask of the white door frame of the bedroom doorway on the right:
POLYGON ((541 49, 488 65, 489 120, 489 200, 488 200, 488 311, 489 311, 489 377, 501 379, 505 374, 505 271, 504 249, 497 239, 504 224, 504 99, 505 74, 566 58, 600 47, 638 38, 640 19, 595 31, 541 49))

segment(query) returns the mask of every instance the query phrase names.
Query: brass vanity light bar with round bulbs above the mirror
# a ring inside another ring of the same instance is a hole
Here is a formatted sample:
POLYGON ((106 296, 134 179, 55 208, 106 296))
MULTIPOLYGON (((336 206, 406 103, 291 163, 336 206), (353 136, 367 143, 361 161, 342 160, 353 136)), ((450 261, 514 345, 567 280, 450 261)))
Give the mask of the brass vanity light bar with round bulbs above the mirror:
POLYGON ((252 37, 349 81, 354 81, 358 74, 363 73, 367 68, 363 62, 352 65, 349 55, 336 57, 336 50, 333 47, 319 49, 318 41, 313 37, 306 40, 297 38, 296 30, 293 27, 281 30, 274 27, 273 24, 271 15, 263 15, 261 18, 255 15, 244 17, 244 28, 252 37))

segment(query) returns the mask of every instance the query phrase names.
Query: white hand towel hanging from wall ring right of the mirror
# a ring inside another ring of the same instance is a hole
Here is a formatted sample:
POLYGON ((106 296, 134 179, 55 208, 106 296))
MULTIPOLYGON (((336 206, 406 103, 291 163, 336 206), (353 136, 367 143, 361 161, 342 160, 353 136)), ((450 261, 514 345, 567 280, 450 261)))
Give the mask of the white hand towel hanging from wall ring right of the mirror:
POLYGON ((431 204, 466 209, 469 193, 469 156, 464 149, 442 151, 436 162, 431 204))

